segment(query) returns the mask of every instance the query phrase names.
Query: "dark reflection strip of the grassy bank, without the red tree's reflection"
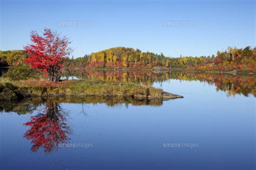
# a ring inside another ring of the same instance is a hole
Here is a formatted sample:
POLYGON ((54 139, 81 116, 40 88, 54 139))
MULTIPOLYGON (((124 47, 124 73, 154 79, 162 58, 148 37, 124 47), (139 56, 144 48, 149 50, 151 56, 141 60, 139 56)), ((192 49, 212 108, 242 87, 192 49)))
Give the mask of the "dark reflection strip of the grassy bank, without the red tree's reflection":
MULTIPOLYGON (((136 99, 132 97, 55 97, 55 98, 29 98, 19 102, 0 101, 0 112, 16 112, 18 115, 31 114, 33 110, 42 107, 45 103, 46 110, 49 108, 49 101, 54 103, 80 103, 80 104, 100 104, 105 103, 108 107, 118 107, 125 104, 129 105, 151 105, 154 107, 163 105, 163 100, 160 99, 136 99)), ((58 107, 60 108, 60 107, 58 107)), ((82 106, 81 106, 82 108, 82 106)), ((50 108, 49 108, 50 109, 50 108)), ((61 111, 61 110, 60 110, 61 111)))

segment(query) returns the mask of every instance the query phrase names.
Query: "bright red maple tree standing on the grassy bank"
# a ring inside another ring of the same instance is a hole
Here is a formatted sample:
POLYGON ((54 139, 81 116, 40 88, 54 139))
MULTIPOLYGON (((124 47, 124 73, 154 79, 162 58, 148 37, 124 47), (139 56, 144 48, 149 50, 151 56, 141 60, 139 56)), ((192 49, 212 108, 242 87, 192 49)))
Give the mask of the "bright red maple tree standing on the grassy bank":
POLYGON ((30 63, 31 68, 45 72, 52 82, 59 81, 64 61, 73 51, 68 47, 70 40, 50 29, 44 29, 43 36, 31 31, 30 38, 33 43, 24 47, 29 55, 25 62, 30 63))

